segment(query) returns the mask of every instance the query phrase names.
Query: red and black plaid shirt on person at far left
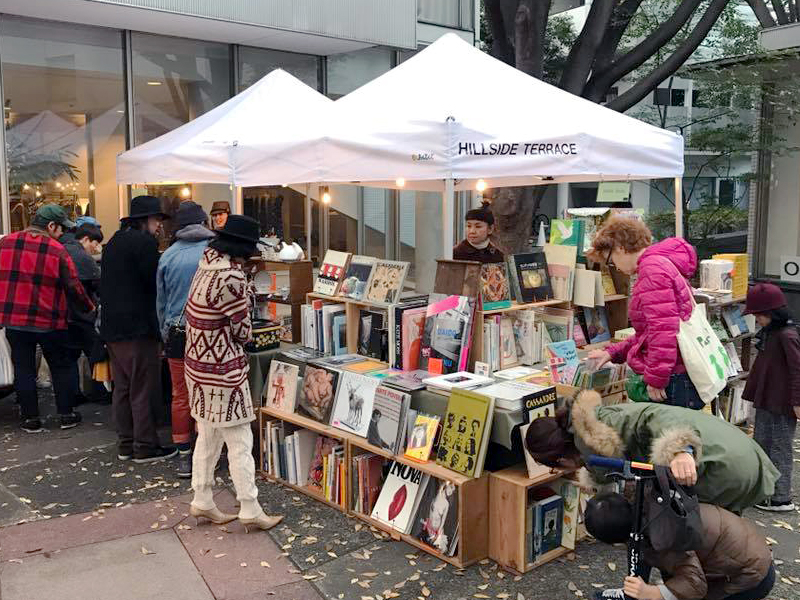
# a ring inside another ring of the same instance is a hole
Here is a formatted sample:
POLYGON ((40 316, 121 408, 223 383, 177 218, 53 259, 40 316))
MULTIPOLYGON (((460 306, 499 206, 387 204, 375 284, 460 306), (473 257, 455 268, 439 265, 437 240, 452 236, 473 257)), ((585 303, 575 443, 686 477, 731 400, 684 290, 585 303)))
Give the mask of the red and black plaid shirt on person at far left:
POLYGON ((64 246, 30 229, 0 239, 1 325, 66 329, 67 302, 94 308, 64 246))

